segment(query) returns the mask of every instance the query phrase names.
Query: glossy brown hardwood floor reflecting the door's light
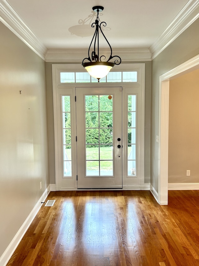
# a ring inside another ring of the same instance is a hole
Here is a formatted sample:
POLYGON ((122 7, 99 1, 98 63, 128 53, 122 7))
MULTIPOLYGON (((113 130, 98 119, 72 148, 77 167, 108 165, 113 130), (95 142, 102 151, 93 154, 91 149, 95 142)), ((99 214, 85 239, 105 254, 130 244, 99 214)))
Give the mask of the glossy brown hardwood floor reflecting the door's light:
POLYGON ((9 266, 199 265, 199 191, 56 191, 9 266))

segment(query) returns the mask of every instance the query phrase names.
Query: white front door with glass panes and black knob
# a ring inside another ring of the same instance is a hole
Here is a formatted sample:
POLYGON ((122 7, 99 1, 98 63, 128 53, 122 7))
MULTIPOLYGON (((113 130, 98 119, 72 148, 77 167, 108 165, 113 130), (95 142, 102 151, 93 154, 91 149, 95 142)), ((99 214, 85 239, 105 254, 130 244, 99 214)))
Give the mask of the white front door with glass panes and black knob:
POLYGON ((76 88, 77 188, 122 188, 122 88, 76 88))

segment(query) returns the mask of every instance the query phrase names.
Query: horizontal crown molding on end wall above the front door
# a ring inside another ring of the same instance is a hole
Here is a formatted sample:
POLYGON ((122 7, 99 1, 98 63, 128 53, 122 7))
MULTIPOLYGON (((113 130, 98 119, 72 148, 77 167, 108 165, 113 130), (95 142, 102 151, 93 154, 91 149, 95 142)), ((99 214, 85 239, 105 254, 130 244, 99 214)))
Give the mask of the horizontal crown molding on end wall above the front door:
MULTIPOLYGON (((105 50, 101 53, 106 54, 105 50)), ((88 55, 88 50, 68 49, 68 50, 48 50, 45 56, 46 62, 82 62, 88 55)), ((123 62, 150 61, 149 49, 114 49, 113 55, 119 55, 123 62)))

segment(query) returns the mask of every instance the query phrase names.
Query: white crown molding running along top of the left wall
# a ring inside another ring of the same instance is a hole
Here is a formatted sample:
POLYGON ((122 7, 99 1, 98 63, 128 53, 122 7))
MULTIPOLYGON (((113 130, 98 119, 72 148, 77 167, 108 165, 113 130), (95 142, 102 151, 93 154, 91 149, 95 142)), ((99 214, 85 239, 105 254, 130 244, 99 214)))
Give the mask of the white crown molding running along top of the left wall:
POLYGON ((6 0, 0 0, 0 21, 45 60, 47 48, 6 0))

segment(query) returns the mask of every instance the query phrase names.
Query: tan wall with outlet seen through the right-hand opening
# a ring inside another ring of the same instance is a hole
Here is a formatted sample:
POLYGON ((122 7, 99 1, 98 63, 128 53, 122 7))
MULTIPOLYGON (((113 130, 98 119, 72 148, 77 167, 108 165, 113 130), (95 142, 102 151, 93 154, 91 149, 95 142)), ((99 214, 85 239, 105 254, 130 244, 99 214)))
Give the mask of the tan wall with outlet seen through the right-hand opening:
POLYGON ((199 69, 169 82, 169 183, 198 182, 198 84, 199 69))

